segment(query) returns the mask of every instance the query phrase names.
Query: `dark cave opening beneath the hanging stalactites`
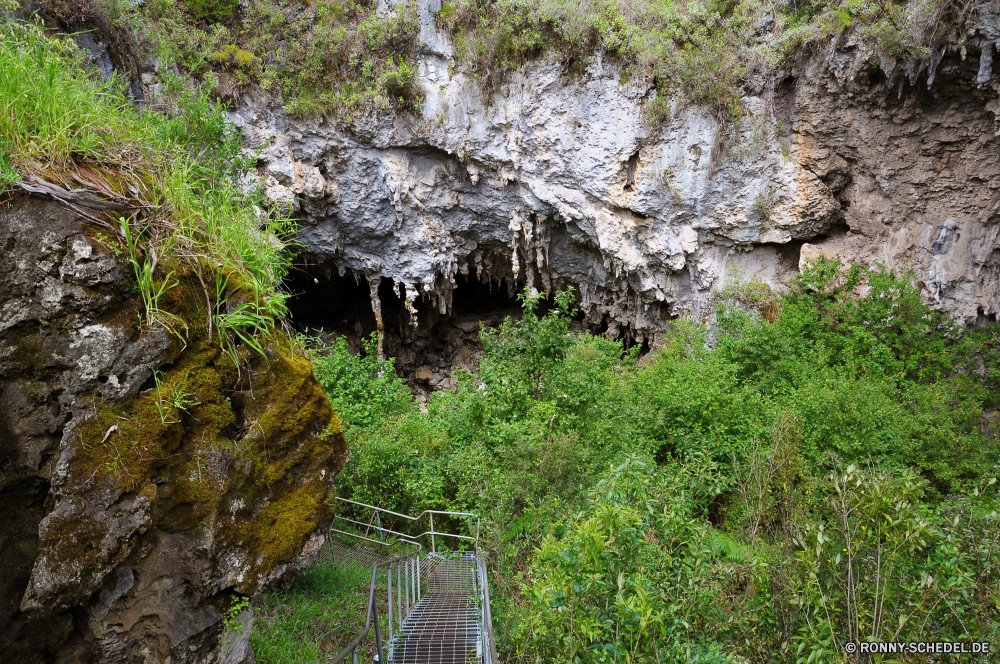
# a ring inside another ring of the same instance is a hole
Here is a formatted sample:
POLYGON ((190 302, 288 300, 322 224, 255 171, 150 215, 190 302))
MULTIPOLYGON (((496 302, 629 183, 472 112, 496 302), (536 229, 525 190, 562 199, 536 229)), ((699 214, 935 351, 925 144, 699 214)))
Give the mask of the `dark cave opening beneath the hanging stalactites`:
MULTIPOLYGON (((459 367, 473 368, 482 353, 479 328, 500 325, 507 316, 519 317, 521 305, 506 281, 492 284, 474 274, 456 276, 451 310, 441 314, 435 301, 416 299, 416 326, 406 310, 406 293, 397 294, 391 281, 378 286, 382 310, 383 350, 396 360, 396 373, 418 396, 455 384, 459 367), (401 297, 402 296, 402 297, 401 297)), ((340 274, 330 261, 299 265, 286 280, 292 292, 288 308, 292 323, 302 332, 330 341, 346 337, 358 353, 366 337, 377 331, 368 280, 350 270, 340 274)))

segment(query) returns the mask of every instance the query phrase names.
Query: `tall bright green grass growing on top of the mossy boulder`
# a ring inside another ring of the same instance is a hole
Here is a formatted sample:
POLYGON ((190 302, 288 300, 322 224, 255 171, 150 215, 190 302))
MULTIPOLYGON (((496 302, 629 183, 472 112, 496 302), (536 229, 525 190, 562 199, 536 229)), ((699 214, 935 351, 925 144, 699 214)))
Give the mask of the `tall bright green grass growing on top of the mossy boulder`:
POLYGON ((287 315, 280 285, 294 225, 239 186, 254 159, 207 91, 169 75, 165 83, 161 111, 138 109, 69 38, 0 23, 0 191, 29 174, 67 185, 80 169, 96 174, 96 188, 139 208, 106 221, 135 272, 145 323, 183 340, 187 323, 161 303, 184 275, 196 277, 208 335, 239 365, 237 346, 264 354, 287 315))

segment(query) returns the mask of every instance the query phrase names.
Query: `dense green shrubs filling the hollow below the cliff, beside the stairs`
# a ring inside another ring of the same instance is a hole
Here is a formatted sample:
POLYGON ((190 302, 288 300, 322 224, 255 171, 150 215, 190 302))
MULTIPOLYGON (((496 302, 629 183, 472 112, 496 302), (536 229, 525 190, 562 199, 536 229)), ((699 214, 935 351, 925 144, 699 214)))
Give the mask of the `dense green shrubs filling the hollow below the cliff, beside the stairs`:
MULTIPOLYGON (((737 280, 716 300, 713 346, 678 322, 639 360, 569 332, 571 295, 545 317, 525 295, 426 414, 398 390, 362 399, 340 495, 482 514, 512 661, 995 642, 996 326, 957 329, 910 276, 826 259, 784 295, 737 280)), ((316 362, 333 398, 379 364, 316 362)))

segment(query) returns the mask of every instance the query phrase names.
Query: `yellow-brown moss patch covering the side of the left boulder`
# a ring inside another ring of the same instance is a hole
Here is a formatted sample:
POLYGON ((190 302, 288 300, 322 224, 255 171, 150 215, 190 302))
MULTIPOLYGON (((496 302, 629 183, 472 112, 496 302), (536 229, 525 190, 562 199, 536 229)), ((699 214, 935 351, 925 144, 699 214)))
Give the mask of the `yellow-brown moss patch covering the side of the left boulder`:
MULTIPOLYGON (((240 349, 247 366, 238 371, 217 338, 207 338, 200 287, 180 281, 168 302, 188 325, 187 345, 174 343, 156 388, 121 403, 98 399, 74 444, 70 484, 96 478, 123 493, 151 491, 163 530, 214 524, 219 555, 236 547, 252 561, 239 588, 252 593, 331 518, 327 500, 346 445, 293 340, 277 334, 267 358, 240 349), (173 399, 179 392, 184 398, 173 399)), ((57 530, 72 537, 78 529, 57 530)))

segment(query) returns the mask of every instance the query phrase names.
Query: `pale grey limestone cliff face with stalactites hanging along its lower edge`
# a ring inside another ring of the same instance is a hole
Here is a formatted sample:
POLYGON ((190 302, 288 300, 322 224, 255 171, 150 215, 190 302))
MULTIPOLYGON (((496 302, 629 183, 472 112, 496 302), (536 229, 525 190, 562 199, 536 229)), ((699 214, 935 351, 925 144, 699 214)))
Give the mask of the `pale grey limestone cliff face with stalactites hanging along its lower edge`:
POLYGON ((744 100, 724 141, 694 108, 651 126, 652 88, 600 55, 572 78, 531 64, 486 105, 420 11, 419 117, 345 129, 263 98, 233 114, 264 149, 269 195, 300 208, 317 279, 353 275, 373 296, 386 283, 411 321, 454 313, 461 275, 573 285, 591 329, 649 338, 706 318, 734 268, 782 287, 822 253, 912 268, 963 324, 1000 308, 990 42, 944 49, 908 79, 850 45, 804 60, 773 95, 744 100))

